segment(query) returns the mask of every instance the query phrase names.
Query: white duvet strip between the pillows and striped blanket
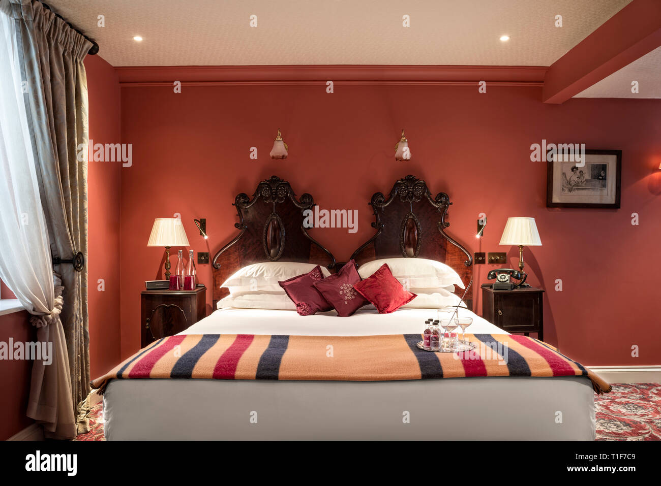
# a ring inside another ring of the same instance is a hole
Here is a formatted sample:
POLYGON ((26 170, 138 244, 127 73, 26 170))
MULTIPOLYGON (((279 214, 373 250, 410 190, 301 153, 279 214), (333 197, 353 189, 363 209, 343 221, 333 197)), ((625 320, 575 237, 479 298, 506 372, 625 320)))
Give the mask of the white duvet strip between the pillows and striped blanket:
MULTIPOLYGON (((314 316, 299 316, 294 310, 224 308, 193 324, 180 334, 288 334, 288 335, 379 335, 422 333, 429 318, 449 318, 453 311, 437 309, 399 309, 391 314, 379 314, 375 309, 360 309, 350 317, 338 317, 336 312, 321 312, 314 316)), ((472 317, 467 333, 507 334, 485 319, 466 309, 460 317, 472 317)), ((459 330, 461 332, 461 330, 459 330)))

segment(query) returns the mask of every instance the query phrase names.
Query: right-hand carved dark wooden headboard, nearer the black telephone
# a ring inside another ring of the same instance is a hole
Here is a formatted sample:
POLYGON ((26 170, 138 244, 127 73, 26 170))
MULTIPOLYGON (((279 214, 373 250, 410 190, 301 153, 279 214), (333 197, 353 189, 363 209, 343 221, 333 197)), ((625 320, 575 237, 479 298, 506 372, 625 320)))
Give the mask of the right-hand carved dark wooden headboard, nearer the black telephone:
MULTIPOLYGON (((464 286, 468 285, 473 279, 473 257, 446 233, 449 223, 445 218, 451 204, 444 192, 432 199, 424 180, 410 175, 398 180, 387 198, 381 192, 371 197, 369 205, 376 218, 371 225, 376 233, 351 258, 358 265, 380 258, 437 260, 455 269, 464 286)), ((464 299, 471 309, 473 290, 464 299)), ((463 289, 455 290, 459 296, 463 293, 463 289)))

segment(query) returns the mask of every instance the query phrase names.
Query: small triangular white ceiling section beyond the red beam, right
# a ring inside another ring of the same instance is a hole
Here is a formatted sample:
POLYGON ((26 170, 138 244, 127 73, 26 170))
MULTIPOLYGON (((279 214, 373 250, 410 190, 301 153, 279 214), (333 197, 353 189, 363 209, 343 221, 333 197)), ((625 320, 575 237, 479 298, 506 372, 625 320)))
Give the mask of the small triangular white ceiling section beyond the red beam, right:
POLYGON ((602 79, 574 98, 661 98, 661 48, 602 79), (631 83, 638 81, 637 93, 631 83))

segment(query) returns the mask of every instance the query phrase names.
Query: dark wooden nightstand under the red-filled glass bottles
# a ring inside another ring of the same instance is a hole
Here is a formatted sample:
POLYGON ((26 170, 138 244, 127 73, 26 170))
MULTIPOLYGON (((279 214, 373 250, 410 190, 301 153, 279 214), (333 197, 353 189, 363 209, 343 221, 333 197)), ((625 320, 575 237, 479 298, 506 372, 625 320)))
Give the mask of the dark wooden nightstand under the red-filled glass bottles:
POLYGON ((194 291, 142 291, 141 346, 179 333, 206 314, 206 287, 194 291))

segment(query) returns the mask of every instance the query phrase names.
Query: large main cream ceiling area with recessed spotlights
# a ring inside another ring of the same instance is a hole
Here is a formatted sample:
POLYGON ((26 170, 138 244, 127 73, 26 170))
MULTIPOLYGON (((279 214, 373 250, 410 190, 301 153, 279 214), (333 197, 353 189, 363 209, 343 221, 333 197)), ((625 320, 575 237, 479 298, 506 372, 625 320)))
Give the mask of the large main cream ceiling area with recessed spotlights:
POLYGON ((45 1, 114 66, 548 66, 631 0, 45 1))

